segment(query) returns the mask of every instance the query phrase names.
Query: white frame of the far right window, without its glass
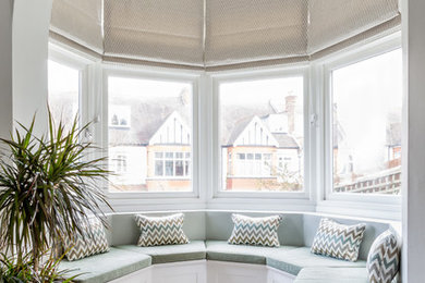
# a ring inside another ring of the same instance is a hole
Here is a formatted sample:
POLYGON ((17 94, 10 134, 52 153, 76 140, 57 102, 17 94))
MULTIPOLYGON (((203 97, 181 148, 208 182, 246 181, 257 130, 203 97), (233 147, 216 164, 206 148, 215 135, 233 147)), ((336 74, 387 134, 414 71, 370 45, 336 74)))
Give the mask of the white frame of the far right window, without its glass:
POLYGON ((344 204, 351 202, 354 207, 364 207, 374 205, 400 207, 400 195, 385 194, 353 194, 353 193, 335 193, 333 192, 333 156, 332 156, 332 72, 335 70, 349 66, 365 60, 394 51, 401 48, 401 37, 394 33, 388 37, 375 40, 371 44, 353 47, 344 52, 337 53, 319 63, 323 67, 323 133, 324 133, 324 156, 323 172, 324 184, 321 189, 321 200, 325 202, 344 204))

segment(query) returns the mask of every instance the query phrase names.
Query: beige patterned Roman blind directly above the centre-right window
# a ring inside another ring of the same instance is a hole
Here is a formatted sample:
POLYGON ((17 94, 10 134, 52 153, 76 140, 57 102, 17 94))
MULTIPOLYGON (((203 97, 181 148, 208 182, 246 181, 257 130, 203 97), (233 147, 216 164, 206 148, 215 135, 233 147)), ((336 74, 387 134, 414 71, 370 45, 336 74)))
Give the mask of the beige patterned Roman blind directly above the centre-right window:
POLYGON ((207 66, 305 56, 307 0, 207 1, 207 66))

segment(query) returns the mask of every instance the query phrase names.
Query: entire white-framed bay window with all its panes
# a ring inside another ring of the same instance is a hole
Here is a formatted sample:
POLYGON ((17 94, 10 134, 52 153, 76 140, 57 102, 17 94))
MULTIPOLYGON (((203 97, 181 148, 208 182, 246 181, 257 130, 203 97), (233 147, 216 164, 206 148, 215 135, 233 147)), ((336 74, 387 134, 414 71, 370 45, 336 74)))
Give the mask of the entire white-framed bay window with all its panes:
POLYGON ((49 61, 49 104, 66 125, 80 104, 86 110, 83 121, 94 122, 94 142, 108 156, 112 199, 396 207, 403 153, 396 37, 311 64, 223 73, 49 61), (89 79, 98 85, 85 89, 89 79), (89 96, 81 100, 82 91, 89 96))

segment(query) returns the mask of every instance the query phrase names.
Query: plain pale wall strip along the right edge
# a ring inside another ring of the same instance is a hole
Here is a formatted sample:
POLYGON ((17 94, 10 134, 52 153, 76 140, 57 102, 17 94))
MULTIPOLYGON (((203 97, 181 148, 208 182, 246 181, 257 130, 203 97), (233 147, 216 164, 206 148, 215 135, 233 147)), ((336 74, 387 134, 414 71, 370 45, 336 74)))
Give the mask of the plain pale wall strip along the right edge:
POLYGON ((403 282, 424 282, 425 259, 425 1, 402 0, 403 282))

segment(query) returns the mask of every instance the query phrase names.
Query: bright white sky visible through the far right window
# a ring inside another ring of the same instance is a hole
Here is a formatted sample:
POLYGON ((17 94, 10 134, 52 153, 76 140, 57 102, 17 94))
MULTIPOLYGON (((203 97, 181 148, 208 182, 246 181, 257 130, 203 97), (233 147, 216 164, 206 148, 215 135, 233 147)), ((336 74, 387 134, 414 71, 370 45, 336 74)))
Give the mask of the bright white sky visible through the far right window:
POLYGON ((354 170, 373 173, 381 169, 388 115, 399 114, 401 121, 401 50, 333 71, 332 95, 347 135, 341 146, 353 155, 354 170))

